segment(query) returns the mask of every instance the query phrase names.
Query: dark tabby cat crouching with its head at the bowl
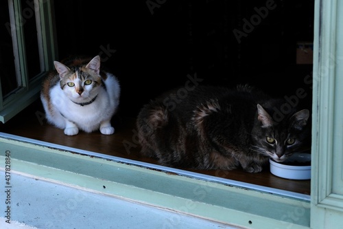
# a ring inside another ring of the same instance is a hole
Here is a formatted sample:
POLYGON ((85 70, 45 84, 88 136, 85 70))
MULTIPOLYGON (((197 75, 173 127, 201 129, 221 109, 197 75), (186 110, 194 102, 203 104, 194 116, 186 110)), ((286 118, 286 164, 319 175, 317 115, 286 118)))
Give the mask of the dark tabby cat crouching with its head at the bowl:
POLYGON ((175 89, 139 112, 141 153, 165 166, 258 173, 270 157, 283 162, 309 135, 309 110, 285 105, 248 85, 175 89))

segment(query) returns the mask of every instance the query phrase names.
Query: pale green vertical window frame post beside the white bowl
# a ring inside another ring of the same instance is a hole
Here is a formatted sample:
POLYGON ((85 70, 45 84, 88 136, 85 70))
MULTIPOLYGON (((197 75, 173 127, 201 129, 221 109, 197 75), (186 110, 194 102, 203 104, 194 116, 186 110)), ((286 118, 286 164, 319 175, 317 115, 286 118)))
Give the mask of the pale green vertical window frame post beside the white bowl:
POLYGON ((316 1, 311 228, 343 224, 343 2, 316 1))

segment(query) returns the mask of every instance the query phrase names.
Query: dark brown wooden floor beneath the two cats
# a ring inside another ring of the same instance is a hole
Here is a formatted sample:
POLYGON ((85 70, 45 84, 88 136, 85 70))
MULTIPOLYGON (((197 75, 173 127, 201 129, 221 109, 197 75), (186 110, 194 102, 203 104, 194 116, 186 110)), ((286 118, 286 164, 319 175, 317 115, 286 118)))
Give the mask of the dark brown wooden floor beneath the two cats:
MULTIPOLYGON (((44 111, 37 100, 32 105, 21 111, 5 124, 0 122, 0 131, 19 135, 25 138, 51 142, 76 149, 124 157, 131 160, 158 164, 156 160, 143 157, 139 154, 139 146, 136 144, 135 119, 121 117, 120 114, 113 118, 115 133, 113 135, 102 135, 99 131, 84 133, 80 131, 78 135, 64 135, 62 129, 47 124, 43 119, 44 111)), ((233 171, 195 171, 206 175, 213 175, 225 179, 233 179, 239 182, 247 182, 280 190, 287 190, 305 195, 310 194, 310 180, 294 180, 276 177, 270 173, 269 168, 265 168, 261 173, 246 173, 241 169, 233 171)))

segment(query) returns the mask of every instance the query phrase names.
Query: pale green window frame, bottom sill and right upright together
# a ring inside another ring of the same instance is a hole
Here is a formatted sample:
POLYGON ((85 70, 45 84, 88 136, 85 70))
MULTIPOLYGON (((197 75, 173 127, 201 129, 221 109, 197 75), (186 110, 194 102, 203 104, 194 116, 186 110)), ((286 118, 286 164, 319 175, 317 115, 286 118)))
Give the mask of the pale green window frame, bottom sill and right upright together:
POLYGON ((342 1, 315 2, 309 199, 4 133, 1 149, 11 152, 16 173, 235 226, 337 228, 343 225, 342 21, 342 1))

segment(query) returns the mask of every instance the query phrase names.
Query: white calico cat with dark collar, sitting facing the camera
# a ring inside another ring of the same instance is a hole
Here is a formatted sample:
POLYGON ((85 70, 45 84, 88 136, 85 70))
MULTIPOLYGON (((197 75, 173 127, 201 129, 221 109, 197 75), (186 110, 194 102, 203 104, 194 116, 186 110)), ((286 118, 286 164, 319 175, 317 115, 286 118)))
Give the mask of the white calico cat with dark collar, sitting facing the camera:
POLYGON ((111 119, 119 105, 120 86, 110 72, 100 69, 100 57, 54 61, 56 71, 43 80, 40 99, 47 121, 66 135, 100 130, 115 132, 111 119))

